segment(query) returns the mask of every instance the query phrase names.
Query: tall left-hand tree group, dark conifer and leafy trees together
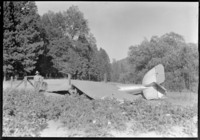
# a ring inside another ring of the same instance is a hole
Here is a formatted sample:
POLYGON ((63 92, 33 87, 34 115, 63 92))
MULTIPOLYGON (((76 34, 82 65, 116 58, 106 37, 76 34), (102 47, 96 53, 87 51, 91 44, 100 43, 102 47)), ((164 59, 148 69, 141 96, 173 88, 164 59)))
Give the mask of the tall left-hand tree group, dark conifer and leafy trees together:
POLYGON ((77 6, 40 16, 35 2, 3 2, 3 73, 101 81, 110 59, 77 6))

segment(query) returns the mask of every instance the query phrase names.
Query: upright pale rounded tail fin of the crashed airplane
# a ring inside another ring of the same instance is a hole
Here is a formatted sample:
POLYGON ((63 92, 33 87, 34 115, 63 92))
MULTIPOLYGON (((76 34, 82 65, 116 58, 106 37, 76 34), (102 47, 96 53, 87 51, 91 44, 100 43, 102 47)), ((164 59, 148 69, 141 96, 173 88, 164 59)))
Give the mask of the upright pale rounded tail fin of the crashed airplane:
POLYGON ((160 84, 165 80, 163 65, 159 64, 146 73, 142 80, 142 84, 149 87, 143 90, 146 99, 161 98, 166 95, 166 89, 160 84))

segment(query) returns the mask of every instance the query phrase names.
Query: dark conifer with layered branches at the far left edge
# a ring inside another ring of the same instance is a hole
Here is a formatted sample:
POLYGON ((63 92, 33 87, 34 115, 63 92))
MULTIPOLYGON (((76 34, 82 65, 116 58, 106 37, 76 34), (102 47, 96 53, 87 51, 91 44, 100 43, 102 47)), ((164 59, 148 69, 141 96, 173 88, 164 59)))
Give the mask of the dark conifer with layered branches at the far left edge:
POLYGON ((34 2, 6 1, 3 12, 4 73, 30 73, 43 52, 39 15, 34 2))

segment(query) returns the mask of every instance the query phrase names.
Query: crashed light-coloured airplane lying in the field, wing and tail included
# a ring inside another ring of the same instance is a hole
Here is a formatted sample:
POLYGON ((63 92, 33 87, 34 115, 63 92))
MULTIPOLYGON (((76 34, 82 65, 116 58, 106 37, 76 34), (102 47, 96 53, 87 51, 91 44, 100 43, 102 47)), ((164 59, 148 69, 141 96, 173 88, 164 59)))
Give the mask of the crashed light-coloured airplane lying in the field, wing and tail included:
MULTIPOLYGON (((166 95, 166 89, 160 85, 164 80, 164 67, 162 64, 159 64, 146 73, 141 85, 115 85, 105 82, 72 80, 71 87, 78 91, 79 94, 85 94, 91 99, 104 99, 105 97, 110 97, 120 101, 133 101, 138 94, 142 94, 145 99, 151 100, 160 99, 166 95)), ((66 84, 62 87, 68 87, 66 89, 67 91, 71 90, 66 84)), ((52 92, 50 90, 48 91, 52 92)))

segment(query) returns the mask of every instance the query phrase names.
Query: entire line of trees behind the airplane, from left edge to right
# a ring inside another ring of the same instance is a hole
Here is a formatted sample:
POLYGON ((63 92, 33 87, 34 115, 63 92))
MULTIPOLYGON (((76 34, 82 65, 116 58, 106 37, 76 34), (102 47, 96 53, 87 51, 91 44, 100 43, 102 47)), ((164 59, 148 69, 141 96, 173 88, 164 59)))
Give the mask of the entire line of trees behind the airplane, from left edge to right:
POLYGON ((3 2, 3 74, 140 84, 145 73, 163 64, 168 90, 197 90, 199 74, 197 44, 186 43, 174 32, 146 38, 130 46, 127 58, 110 62, 97 48, 88 20, 77 6, 48 11, 40 16, 35 2, 3 2))

